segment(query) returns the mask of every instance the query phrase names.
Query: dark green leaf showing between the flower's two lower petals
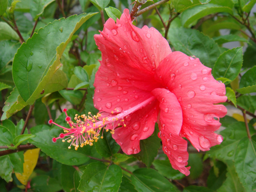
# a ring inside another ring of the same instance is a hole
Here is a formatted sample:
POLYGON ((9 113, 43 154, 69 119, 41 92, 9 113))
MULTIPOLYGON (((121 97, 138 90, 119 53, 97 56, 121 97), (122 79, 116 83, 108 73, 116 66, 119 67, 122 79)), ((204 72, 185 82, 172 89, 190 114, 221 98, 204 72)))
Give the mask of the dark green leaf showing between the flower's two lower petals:
MULTIPOLYGON (((156 126, 158 126, 156 124, 156 126)), ((150 167, 155 157, 157 156, 158 149, 160 147, 160 138, 157 136, 158 127, 155 127, 154 133, 140 141, 140 152, 137 154, 133 154, 138 160, 145 163, 147 167, 150 167)))

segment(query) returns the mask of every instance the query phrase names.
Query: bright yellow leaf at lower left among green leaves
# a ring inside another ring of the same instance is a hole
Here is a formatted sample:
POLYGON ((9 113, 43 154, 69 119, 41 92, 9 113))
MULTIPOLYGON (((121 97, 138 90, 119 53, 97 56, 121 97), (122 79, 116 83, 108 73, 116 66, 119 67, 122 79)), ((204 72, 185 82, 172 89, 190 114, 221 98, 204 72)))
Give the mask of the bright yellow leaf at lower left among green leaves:
POLYGON ((27 150, 24 153, 23 173, 15 173, 17 179, 22 184, 26 185, 28 178, 32 174, 35 165, 37 164, 40 149, 27 150))

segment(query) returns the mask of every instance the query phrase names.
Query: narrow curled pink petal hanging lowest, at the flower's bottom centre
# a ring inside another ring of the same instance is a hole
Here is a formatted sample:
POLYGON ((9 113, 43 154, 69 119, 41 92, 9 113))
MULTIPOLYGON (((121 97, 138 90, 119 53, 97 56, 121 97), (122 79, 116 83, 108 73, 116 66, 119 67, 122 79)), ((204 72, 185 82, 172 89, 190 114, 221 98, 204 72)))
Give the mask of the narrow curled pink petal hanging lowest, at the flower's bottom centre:
POLYGON ((174 169, 189 175, 187 142, 179 136, 182 126, 182 109, 176 96, 167 89, 154 89, 152 94, 160 102, 161 139, 163 152, 168 156, 174 169))

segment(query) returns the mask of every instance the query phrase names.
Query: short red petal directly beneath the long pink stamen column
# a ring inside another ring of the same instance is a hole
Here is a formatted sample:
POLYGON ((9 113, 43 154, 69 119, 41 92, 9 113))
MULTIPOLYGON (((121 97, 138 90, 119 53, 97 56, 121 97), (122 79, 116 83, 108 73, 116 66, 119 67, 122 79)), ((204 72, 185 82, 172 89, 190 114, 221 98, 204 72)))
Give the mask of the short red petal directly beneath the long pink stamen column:
POLYGON ((126 127, 115 129, 112 137, 115 139, 126 154, 140 152, 140 140, 146 139, 155 129, 158 106, 157 101, 146 105, 124 119, 126 127))

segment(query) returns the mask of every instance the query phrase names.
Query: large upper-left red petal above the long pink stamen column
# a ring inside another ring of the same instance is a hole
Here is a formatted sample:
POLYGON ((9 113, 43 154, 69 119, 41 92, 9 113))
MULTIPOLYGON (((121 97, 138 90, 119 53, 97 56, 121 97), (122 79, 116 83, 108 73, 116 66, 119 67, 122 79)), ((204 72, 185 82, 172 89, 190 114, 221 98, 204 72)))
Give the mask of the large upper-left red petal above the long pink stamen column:
POLYGON ((148 91, 158 87, 156 66, 171 53, 166 39, 154 28, 133 26, 128 9, 116 23, 108 19, 94 38, 102 52, 94 83, 96 108, 110 113, 116 107, 127 109, 149 98, 148 91))

